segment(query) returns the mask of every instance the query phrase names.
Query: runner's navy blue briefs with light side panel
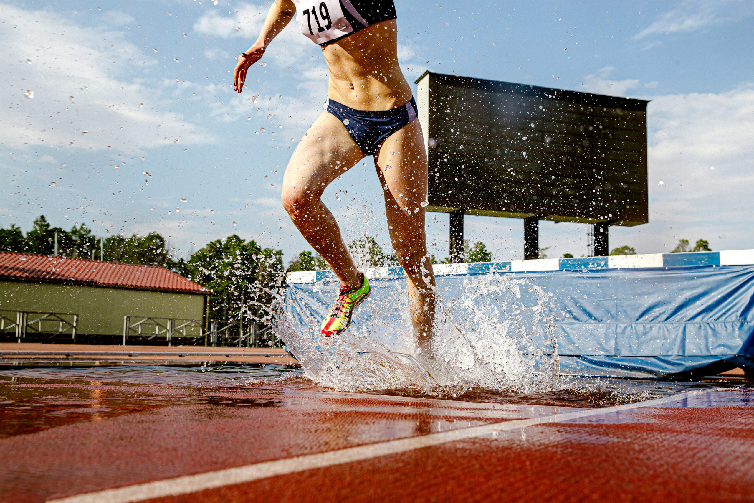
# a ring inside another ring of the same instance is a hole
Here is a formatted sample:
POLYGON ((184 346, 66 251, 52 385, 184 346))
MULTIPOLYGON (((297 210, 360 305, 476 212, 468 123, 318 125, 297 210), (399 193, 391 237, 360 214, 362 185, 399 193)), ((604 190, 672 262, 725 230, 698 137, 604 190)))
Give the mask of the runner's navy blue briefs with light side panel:
POLYGON ((392 110, 357 110, 327 100, 327 112, 340 119, 364 155, 375 155, 388 136, 416 118, 418 109, 413 98, 392 110))

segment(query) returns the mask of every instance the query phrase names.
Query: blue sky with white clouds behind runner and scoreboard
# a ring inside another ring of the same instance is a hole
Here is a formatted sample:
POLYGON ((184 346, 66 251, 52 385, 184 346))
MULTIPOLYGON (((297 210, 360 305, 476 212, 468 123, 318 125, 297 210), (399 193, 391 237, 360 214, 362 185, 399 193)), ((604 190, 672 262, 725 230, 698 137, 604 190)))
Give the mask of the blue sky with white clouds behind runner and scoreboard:
MULTIPOLYGON (((611 227, 611 247, 754 247, 754 3, 396 4, 410 81, 430 69, 651 100, 650 223, 611 227)), ((292 23, 232 92, 234 56, 268 6, 0 3, 0 225, 28 230, 44 213, 97 235, 155 230, 176 256, 231 233, 286 259, 308 250, 279 196, 326 98, 320 49, 292 23)), ((387 243, 371 158, 325 198, 348 238, 387 243)), ((589 230, 541 222, 540 243, 579 256, 589 230)), ((429 213, 428 232, 446 256, 448 216, 429 213)), ((466 235, 497 259, 523 256, 521 220, 467 216, 466 235)))

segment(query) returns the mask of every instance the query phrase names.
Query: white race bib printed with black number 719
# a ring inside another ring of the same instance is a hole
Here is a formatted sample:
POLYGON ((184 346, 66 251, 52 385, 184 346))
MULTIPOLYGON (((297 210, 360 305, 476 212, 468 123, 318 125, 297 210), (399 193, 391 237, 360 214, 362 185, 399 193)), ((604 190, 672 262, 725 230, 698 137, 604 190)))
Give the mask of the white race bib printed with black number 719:
POLYGON ((315 44, 341 38, 354 32, 343 15, 340 0, 294 0, 296 21, 301 32, 315 44))

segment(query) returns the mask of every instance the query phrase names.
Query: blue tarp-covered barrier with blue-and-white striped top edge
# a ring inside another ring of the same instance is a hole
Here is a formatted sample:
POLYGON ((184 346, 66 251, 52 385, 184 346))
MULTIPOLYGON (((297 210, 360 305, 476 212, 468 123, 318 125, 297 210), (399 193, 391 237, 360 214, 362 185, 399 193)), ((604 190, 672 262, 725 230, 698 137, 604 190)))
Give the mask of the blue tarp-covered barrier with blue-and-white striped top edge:
MULTIPOLYGON (((662 378, 754 370, 754 250, 437 264, 434 271, 451 303, 468 296, 474 277, 480 285, 496 276, 526 278, 552 293, 564 374, 662 378)), ((376 280, 378 299, 382 290, 405 292, 400 267, 364 272, 376 280)), ((292 272, 287 280, 291 305, 306 311, 301 323, 321 319, 336 295, 333 272, 292 272)), ((496 297, 480 294, 479 302, 496 297)), ((366 316, 357 312, 352 327, 366 316)))

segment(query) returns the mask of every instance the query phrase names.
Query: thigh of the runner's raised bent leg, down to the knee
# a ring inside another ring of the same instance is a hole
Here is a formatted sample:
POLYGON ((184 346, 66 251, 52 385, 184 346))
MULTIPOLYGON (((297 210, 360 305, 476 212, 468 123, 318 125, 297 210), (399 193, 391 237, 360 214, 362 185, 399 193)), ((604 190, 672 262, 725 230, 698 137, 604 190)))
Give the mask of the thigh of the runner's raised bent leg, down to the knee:
POLYGON ((322 112, 305 133, 283 176, 283 199, 322 195, 326 186, 354 166, 363 152, 334 115, 322 112))

